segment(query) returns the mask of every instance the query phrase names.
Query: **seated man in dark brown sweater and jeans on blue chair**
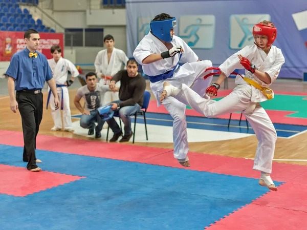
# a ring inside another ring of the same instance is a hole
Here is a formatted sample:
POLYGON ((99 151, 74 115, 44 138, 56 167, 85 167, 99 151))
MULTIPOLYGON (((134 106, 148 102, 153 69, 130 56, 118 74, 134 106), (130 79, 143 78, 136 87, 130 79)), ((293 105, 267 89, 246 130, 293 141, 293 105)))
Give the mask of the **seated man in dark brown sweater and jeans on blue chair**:
MULTIPOLYGON (((134 115, 143 106, 143 97, 146 89, 145 79, 138 73, 138 62, 134 59, 127 61, 127 70, 121 70, 115 74, 109 88, 115 89, 115 83, 120 81, 119 100, 112 101, 112 109, 114 115, 119 114, 122 119, 125 128, 124 136, 119 142, 129 141, 133 132, 131 130, 130 116, 134 115)), ((123 135, 122 130, 119 128, 114 118, 106 120, 109 127, 112 129, 114 136, 110 142, 115 142, 123 135)))

